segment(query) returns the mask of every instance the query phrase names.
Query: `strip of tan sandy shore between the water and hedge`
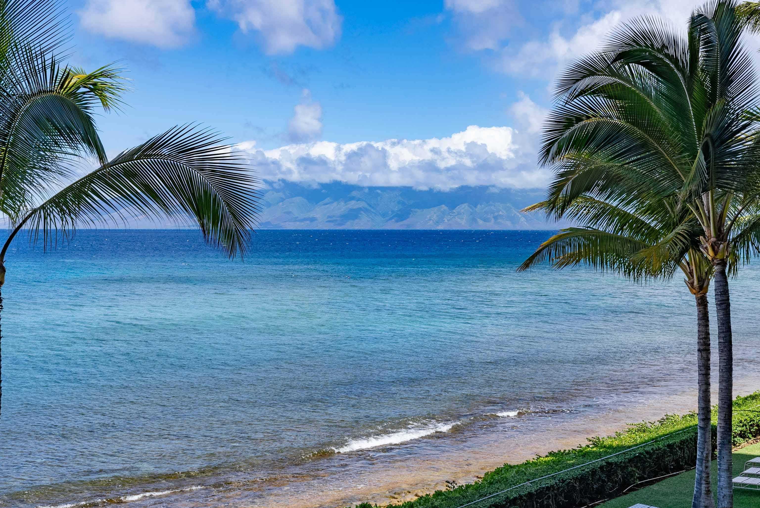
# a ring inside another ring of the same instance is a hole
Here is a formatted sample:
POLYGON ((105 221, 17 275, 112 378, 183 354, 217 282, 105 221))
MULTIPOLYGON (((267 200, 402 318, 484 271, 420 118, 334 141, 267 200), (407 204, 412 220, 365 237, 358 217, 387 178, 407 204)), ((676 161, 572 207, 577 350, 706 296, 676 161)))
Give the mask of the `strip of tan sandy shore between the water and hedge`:
MULTIPOLYGON (((739 377, 734 382, 734 389, 735 395, 747 395, 760 389, 760 379, 739 377)), ((717 391, 713 396, 717 400, 717 391)), ((264 496, 248 504, 275 508, 336 508, 362 501, 384 505, 413 500, 420 495, 445 489, 446 481, 469 483, 505 462, 517 464, 537 454, 585 444, 587 437, 624 430, 629 423, 657 421, 664 414, 683 414, 695 408, 694 389, 640 405, 603 411, 591 417, 561 418, 557 423, 547 422, 531 433, 514 433, 511 437, 499 434, 496 439, 483 435, 470 437, 468 443, 442 444, 440 456, 413 457, 397 463, 395 467, 386 467, 389 464, 383 460, 383 450, 369 451, 363 454, 363 460, 357 462, 353 457, 353 464, 346 461, 345 470, 337 474, 302 478, 302 481, 290 478, 287 487, 262 486, 261 494, 264 496)), ((392 450, 389 452, 393 453, 392 450)), ((337 457, 336 460, 341 459, 337 457)), ((331 469, 334 466, 331 464, 331 469)))

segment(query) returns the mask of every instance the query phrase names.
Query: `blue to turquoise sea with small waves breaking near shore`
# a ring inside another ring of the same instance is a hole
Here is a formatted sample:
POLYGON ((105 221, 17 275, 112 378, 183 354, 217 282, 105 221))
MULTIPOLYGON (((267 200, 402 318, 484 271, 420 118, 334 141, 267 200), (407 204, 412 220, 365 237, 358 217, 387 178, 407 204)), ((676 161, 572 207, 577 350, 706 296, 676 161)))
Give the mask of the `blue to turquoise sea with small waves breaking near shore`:
MULTIPOLYGON (((409 461, 691 389, 682 282, 515 273, 548 235, 261 231, 245 262, 189 230, 18 241, 0 506, 331 506, 409 461)), ((758 281, 732 285, 742 376, 758 281)))

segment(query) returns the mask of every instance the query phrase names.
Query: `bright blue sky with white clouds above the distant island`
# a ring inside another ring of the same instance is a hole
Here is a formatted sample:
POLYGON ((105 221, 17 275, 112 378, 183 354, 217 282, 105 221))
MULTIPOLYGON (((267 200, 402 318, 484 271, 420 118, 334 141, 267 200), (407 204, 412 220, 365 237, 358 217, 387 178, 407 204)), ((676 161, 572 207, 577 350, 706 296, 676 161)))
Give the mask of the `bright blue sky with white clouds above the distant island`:
POLYGON ((684 0, 69 0, 88 68, 134 91, 100 121, 109 151, 201 121, 276 181, 528 189, 562 65, 684 0), (473 126, 468 129, 469 126, 473 126), (459 133, 459 134, 458 134, 459 133), (406 140, 406 141, 392 141, 406 140))

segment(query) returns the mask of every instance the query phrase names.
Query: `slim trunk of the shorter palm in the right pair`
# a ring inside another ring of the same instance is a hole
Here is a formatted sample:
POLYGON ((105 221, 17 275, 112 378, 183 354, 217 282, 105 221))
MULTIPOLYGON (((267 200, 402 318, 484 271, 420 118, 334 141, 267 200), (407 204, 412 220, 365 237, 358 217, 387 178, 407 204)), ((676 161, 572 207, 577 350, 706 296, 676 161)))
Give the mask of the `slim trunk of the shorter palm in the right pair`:
POLYGON ((710 310, 705 294, 697 300, 697 465, 692 508, 714 508, 710 484, 712 421, 710 405, 710 310))

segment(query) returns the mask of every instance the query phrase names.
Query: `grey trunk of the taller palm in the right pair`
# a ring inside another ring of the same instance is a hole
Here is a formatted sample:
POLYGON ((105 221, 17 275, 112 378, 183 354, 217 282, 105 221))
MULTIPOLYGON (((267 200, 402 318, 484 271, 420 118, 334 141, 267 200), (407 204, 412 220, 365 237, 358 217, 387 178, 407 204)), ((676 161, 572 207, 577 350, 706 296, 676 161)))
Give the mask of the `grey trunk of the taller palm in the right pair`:
POLYGON ((715 259, 715 314, 717 316, 717 506, 733 508, 731 437, 733 421, 733 339, 726 261, 715 259))

